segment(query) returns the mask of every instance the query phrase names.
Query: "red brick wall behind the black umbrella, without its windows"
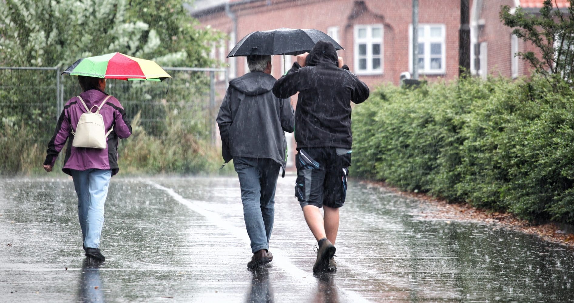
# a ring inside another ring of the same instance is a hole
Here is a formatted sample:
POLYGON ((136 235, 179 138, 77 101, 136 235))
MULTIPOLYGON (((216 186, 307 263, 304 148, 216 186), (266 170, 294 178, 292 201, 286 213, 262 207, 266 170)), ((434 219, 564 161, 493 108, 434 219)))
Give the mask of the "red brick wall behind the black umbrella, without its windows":
MULTIPOLYGON (((237 38, 255 30, 270 30, 278 27, 314 28, 327 32, 329 26, 340 27, 340 44, 345 50, 339 51, 345 63, 354 70, 355 25, 382 23, 383 29, 383 72, 382 74, 362 75, 360 79, 371 88, 385 82, 399 83, 401 72, 409 71, 409 24, 412 21, 411 1, 397 1, 389 5, 386 1, 366 0, 367 10, 357 11, 362 6, 352 0, 273 0, 233 6, 238 19, 237 38), (351 15, 355 18, 350 19, 351 15)), ((430 81, 437 78, 454 79, 458 76, 458 35, 460 20, 460 2, 456 0, 421 1, 419 4, 419 23, 444 24, 445 37, 445 73, 428 76, 430 81), (454 4, 453 4, 454 3, 454 4)), ((221 11, 199 17, 203 25, 230 33, 231 19, 221 11)), ((281 59, 273 59, 273 76, 280 76, 281 59)), ((245 73, 245 58, 239 58, 237 74, 245 73)), ((294 61, 294 58, 293 60, 294 61)), ((421 75, 424 76, 424 75, 421 75)))

